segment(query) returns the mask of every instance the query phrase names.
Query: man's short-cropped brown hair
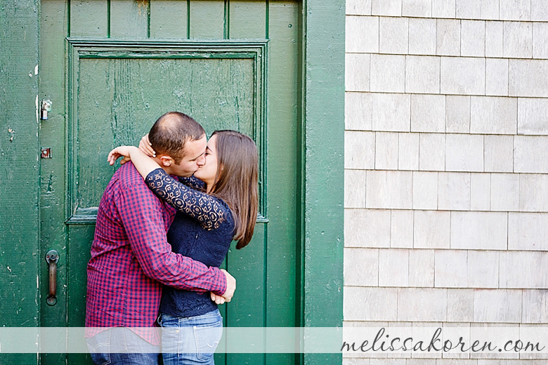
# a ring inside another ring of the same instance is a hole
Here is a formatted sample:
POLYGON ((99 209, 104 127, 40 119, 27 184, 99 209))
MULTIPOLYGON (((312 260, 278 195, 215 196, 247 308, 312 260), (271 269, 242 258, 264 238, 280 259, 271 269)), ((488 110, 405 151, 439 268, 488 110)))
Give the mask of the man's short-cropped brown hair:
POLYGON ((185 157, 185 143, 188 140, 199 140, 204 135, 204 128, 188 115, 168 112, 150 128, 148 140, 157 156, 165 154, 178 165, 185 157))

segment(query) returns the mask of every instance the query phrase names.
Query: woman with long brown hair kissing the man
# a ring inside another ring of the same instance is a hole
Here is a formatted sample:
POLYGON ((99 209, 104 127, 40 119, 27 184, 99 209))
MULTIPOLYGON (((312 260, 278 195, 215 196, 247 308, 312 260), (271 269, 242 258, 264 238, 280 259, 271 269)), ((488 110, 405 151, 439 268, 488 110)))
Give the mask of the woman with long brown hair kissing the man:
MULTIPOLYGON (((238 249, 249 244, 257 215, 258 156, 247 135, 214 132, 207 143, 204 166, 193 178, 180 178, 180 182, 137 147, 117 147, 108 160, 114 164, 122 156, 131 159, 155 194, 177 208, 167 233, 174 252, 218 267, 233 239, 238 241, 238 249)), ((164 364, 214 364, 213 353, 223 326, 217 304, 223 301, 213 293, 210 298, 163 288, 158 322, 162 327, 177 328, 162 331, 164 364)))

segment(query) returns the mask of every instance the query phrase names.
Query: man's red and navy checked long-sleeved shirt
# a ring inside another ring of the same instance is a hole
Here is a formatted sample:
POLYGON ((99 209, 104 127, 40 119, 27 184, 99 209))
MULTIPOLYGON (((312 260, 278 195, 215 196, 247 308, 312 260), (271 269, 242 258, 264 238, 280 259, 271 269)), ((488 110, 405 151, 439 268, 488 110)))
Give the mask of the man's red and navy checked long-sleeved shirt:
MULTIPOLYGON (((198 292, 226 291, 217 267, 171 252, 166 233, 175 210, 158 199, 131 162, 122 165, 101 198, 88 263, 86 336, 104 328, 152 327, 162 284, 198 292)), ((136 330, 155 345, 156 331, 136 330)))

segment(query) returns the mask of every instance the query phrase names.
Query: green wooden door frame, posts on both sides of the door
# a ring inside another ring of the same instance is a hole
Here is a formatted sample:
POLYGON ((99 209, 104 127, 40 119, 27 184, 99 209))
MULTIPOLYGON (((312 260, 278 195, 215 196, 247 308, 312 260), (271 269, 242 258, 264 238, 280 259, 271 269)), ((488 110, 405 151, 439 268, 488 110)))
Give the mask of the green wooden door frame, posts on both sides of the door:
MULTIPOLYGON (((36 254, 40 252, 39 234, 36 233, 40 226, 37 209, 40 173, 37 163, 38 69, 34 70, 39 64, 40 1, 20 0, 11 4, 12 1, 6 0, 2 3, 6 16, 0 22, 0 30, 8 34, 8 39, 4 41, 4 52, 0 55, 4 67, 0 81, 10 85, 12 92, 2 95, 4 100, 0 111, 4 110, 5 115, 0 124, 17 128, 13 128, 17 134, 11 141, 13 153, 6 154, 1 161, 4 171, 11 171, 4 183, 8 190, 1 201, 13 201, 11 196, 20 199, 18 208, 26 209, 29 218, 14 220, 10 227, 1 227, 0 234, 6 237, 4 244, 24 247, 25 251, 34 253, 27 255, 25 262, 29 272, 25 277, 15 279, 16 287, 27 287, 28 282, 22 281, 33 277, 35 273, 32 270, 39 270, 44 259, 36 254), (13 80, 17 80, 15 84, 13 80), (21 181, 30 183, 24 185, 21 181), (22 186, 26 188, 22 189, 22 186), (20 232, 20 236, 25 235, 25 242, 21 242, 21 237, 8 235, 8 232, 20 232)), ((300 3, 301 110, 298 138, 301 150, 296 164, 297 171, 301 172, 300 196, 297 198, 297 211, 301 218, 298 225, 300 237, 297 237, 301 242, 297 258, 301 307, 296 315, 297 323, 302 327, 341 327, 343 321, 344 3, 344 0, 303 0, 300 3)), ((10 215, 9 212, 1 214, 10 215)), ((9 257, 4 260, 9 260, 9 257)), ((10 264, 17 265, 6 263, 10 264)), ((13 280, 9 273, 0 275, 0 284, 5 288, 14 288, 13 284, 8 285, 13 280)), ((25 298, 22 303, 4 303, 1 314, 8 322, 2 325, 18 326, 22 323, 18 319, 30 315, 30 318, 35 318, 30 325, 38 326, 39 301, 33 300, 39 299, 38 293, 34 297, 25 298)), ((342 361, 341 354, 300 354, 300 357, 302 364, 342 361)))

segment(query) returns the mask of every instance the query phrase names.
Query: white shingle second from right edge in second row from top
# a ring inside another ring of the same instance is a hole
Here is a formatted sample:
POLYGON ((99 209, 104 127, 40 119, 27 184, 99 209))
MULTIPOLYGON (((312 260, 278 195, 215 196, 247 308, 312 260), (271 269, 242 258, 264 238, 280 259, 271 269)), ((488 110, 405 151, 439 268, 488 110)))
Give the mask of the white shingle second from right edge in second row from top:
POLYGON ((533 57, 533 23, 504 22, 505 58, 533 57))

